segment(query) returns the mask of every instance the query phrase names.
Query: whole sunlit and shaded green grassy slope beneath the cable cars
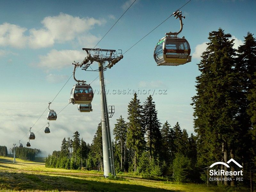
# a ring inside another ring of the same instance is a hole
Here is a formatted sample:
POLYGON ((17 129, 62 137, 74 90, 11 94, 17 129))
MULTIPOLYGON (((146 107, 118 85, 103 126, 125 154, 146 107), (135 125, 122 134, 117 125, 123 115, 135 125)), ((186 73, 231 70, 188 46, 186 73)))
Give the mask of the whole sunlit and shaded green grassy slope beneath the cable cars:
MULTIPOLYGON (((45 168, 44 163, 0 156, 0 191, 226 191, 198 184, 120 177, 109 180, 102 172, 45 168)), ((229 191, 230 188, 229 188, 229 191)), ((233 190, 232 190, 233 191, 233 190)), ((235 190, 236 191, 236 190, 235 190)), ((246 190, 245 190, 246 191, 246 190)))

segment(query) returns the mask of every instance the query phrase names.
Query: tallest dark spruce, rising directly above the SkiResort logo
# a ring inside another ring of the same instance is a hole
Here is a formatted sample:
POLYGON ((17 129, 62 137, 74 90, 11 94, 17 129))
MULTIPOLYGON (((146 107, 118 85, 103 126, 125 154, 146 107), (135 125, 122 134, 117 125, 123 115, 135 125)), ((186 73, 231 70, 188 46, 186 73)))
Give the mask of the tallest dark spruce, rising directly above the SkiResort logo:
MULTIPOLYGON (((234 158, 232 147, 239 135, 236 116, 239 104, 236 52, 234 39, 221 28, 209 33, 208 47, 198 64, 201 74, 196 77, 194 106, 194 128, 198 135, 199 162, 209 166, 212 162, 228 161, 228 154, 234 158)), ((225 171, 227 167, 224 166, 225 171)), ((226 176, 225 176, 226 177, 226 176)), ((224 181, 227 185, 227 181, 224 181)))

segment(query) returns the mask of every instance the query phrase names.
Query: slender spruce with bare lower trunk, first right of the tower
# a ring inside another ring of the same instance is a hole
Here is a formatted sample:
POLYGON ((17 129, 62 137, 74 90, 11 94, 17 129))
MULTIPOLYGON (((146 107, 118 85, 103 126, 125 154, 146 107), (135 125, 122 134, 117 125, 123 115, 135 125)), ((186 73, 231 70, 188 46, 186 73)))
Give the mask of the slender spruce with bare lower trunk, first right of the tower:
MULTIPOLYGON (((117 148, 120 149, 120 169, 123 171, 123 166, 125 164, 125 150, 126 150, 126 134, 127 134, 127 124, 124 121, 122 115, 119 119, 116 119, 116 124, 113 130, 113 134, 115 136, 117 148)), ((116 148, 116 150, 118 150, 116 148)))

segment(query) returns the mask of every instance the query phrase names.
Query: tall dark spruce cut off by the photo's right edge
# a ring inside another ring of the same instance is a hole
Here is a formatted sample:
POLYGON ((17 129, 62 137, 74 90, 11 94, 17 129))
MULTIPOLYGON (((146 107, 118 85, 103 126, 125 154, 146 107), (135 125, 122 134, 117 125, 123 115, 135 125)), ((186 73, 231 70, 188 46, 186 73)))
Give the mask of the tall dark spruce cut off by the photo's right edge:
POLYGON ((238 116, 242 130, 239 146, 243 146, 238 152, 244 157, 243 163, 246 163, 245 160, 250 157, 248 151, 243 150, 244 148, 252 148, 253 156, 256 155, 254 147, 256 145, 256 40, 252 33, 247 33, 244 37, 244 44, 238 47, 237 52, 236 69, 240 73, 242 88, 240 92, 242 102, 240 102, 238 116))

